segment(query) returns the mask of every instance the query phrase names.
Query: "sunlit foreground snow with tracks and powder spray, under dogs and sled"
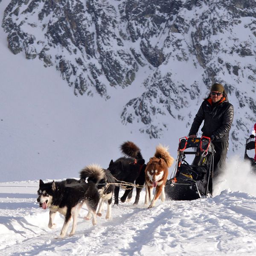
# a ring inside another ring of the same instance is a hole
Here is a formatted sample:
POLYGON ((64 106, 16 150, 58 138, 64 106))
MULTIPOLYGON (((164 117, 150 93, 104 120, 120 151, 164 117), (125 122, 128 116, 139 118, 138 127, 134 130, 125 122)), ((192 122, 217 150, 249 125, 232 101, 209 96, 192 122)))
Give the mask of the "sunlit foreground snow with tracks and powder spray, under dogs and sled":
POLYGON ((64 218, 57 214, 50 230, 49 210, 36 203, 37 180, 0 183, 0 255, 254 256, 256 191, 250 184, 256 176, 238 157, 230 161, 218 184, 223 190, 215 189, 212 198, 159 200, 148 209, 143 189, 137 206, 134 193, 130 202, 113 206, 110 220, 105 204, 96 226, 83 219, 82 207, 75 235, 64 239, 58 237, 64 218))

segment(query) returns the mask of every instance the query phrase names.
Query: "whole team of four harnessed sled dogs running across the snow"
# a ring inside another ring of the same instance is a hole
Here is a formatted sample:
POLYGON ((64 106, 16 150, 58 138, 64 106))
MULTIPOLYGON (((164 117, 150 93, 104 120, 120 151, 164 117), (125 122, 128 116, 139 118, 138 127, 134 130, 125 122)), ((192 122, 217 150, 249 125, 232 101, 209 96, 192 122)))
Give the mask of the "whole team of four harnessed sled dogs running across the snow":
POLYGON ((86 204, 88 209, 88 214, 84 218, 92 219, 93 225, 97 222, 96 215, 102 216, 104 202, 108 205, 105 218, 111 218, 112 196, 114 194, 114 204, 118 204, 120 186, 125 188, 125 193, 120 198, 121 202, 131 199, 134 183, 136 184, 134 204, 138 204, 144 184, 145 205, 150 202, 148 208, 154 207, 159 197, 161 201, 165 200, 164 186, 168 177, 168 168, 174 162, 168 148, 158 145, 154 157, 151 157, 147 164, 140 148, 133 142, 123 143, 120 150, 125 157, 120 157, 116 161, 111 160, 108 169, 103 169, 97 164, 86 166, 80 172, 80 180, 53 180, 49 183, 40 180, 37 201, 43 209, 49 208, 48 227, 55 228, 54 217, 57 212, 64 215, 61 238, 67 233, 71 217, 73 225, 70 235, 75 233, 77 218, 83 204, 86 204))

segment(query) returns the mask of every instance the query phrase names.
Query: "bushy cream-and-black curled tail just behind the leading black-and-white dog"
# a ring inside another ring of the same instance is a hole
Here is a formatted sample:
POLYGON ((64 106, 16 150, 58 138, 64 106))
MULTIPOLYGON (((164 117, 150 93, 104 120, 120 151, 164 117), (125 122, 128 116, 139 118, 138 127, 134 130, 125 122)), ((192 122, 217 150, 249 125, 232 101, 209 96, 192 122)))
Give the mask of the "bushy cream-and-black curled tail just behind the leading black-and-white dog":
POLYGON ((105 177, 104 169, 102 169, 102 167, 98 164, 91 164, 86 166, 80 171, 80 178, 86 179, 87 177, 88 180, 91 180, 94 183, 98 183, 105 177))

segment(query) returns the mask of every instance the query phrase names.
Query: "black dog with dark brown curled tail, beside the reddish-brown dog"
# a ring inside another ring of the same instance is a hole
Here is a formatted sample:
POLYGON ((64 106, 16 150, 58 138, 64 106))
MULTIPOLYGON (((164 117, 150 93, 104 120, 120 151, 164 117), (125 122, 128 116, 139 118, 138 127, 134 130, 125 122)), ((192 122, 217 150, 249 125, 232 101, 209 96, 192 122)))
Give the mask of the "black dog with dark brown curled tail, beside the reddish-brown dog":
MULTIPOLYGON (((125 202, 126 198, 131 198, 133 186, 125 185, 125 182, 134 183, 140 187, 136 187, 136 198, 134 204, 138 204, 140 199, 140 192, 145 183, 145 160, 142 157, 140 148, 137 147, 133 142, 127 141, 120 146, 122 154, 127 157, 120 157, 115 162, 111 160, 108 169, 116 180, 122 181, 122 186, 125 187, 125 193, 120 198, 121 202, 125 202)), ((114 204, 118 204, 119 186, 115 187, 114 204)))

